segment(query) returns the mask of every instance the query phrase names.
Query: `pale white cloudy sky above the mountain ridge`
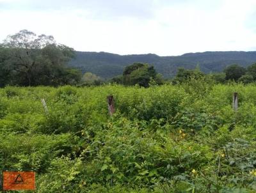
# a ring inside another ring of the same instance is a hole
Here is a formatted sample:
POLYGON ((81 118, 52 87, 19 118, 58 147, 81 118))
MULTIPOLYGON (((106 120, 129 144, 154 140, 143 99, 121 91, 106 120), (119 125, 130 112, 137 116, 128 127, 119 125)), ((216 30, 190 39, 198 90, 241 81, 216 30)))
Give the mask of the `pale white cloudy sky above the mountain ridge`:
POLYGON ((0 41, 28 29, 79 51, 251 51, 256 0, 0 0, 0 26, 0 41))

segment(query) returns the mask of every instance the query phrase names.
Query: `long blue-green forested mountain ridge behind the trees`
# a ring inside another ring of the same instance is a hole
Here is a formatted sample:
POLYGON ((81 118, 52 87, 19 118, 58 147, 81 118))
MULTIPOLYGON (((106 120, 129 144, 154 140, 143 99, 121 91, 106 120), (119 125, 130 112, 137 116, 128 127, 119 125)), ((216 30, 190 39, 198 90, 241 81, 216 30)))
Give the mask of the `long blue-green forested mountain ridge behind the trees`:
POLYGON ((193 69, 196 65, 205 73, 221 72, 226 66, 238 64, 248 66, 256 63, 256 51, 253 52, 198 52, 182 56, 157 56, 156 54, 118 55, 107 52, 76 52, 76 58, 70 61, 82 72, 92 72, 103 79, 122 74, 124 67, 134 62, 154 65, 164 77, 173 77, 177 68, 193 69))

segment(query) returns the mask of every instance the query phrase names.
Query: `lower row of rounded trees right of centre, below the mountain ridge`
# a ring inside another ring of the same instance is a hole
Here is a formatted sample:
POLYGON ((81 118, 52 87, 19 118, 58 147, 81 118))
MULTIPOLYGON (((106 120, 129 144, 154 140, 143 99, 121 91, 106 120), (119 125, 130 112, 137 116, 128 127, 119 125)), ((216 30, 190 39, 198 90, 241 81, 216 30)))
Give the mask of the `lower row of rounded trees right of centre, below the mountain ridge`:
POLYGON ((242 82, 244 84, 256 82, 256 63, 244 68, 239 65, 227 66, 223 72, 204 73, 199 65, 195 69, 178 68, 175 77, 163 79, 160 73, 156 73, 154 66, 143 63, 134 63, 124 69, 123 75, 114 77, 111 81, 124 85, 135 85, 148 87, 150 84, 182 84, 192 79, 208 81, 213 83, 242 82))

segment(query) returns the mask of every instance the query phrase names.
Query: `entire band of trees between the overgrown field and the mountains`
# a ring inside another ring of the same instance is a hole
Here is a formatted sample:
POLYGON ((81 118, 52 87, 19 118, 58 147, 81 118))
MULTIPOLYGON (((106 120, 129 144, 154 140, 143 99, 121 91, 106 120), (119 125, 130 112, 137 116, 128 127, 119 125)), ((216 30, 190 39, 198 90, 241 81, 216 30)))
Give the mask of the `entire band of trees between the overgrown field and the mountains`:
POLYGON ((9 35, 0 44, 0 87, 4 86, 97 86, 104 82, 116 82, 132 86, 148 87, 150 84, 179 84, 191 79, 211 79, 217 83, 228 81, 248 84, 256 81, 256 63, 244 68, 230 65, 220 73, 205 74, 199 66, 193 70, 179 68, 175 77, 163 79, 154 66, 147 63, 134 63, 126 66, 122 75, 111 80, 102 80, 99 76, 70 68, 68 62, 75 57, 74 49, 56 43, 52 36, 39 35, 22 30, 9 35))

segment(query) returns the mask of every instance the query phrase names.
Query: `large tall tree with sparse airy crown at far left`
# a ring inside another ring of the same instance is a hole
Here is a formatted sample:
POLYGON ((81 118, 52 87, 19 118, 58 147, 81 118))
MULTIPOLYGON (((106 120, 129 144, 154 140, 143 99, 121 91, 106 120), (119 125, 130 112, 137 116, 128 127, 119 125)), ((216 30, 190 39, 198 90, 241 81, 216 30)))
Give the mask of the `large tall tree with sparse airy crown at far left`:
POLYGON ((1 68, 12 76, 10 84, 57 86, 74 83, 81 77, 77 70, 68 70, 66 66, 74 57, 74 50, 56 43, 52 36, 36 36, 31 31, 22 30, 8 36, 1 47, 6 53, 2 63, 0 61, 1 68))

